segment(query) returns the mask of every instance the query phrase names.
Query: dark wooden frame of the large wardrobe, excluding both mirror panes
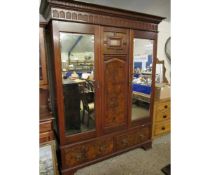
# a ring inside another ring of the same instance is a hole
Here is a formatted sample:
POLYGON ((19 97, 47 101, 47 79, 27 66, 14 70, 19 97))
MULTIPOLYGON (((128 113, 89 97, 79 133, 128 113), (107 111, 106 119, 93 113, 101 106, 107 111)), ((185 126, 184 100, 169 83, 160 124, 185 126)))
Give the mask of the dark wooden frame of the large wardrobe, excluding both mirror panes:
POLYGON ((50 96, 57 121, 59 167, 72 175, 82 167, 134 148, 151 148, 158 24, 162 17, 77 1, 42 0, 47 24, 50 96), (94 35, 95 129, 66 133, 60 33, 94 35), (132 121, 134 38, 153 40, 151 110, 132 121))

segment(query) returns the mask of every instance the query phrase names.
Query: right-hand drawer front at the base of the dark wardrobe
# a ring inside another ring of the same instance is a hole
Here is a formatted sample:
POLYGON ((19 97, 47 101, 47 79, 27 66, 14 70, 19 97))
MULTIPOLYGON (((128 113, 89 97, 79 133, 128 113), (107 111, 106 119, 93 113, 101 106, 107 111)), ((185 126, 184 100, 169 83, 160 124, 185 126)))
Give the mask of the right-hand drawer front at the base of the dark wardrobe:
POLYGON ((121 150, 140 144, 149 139, 150 127, 141 128, 116 136, 116 149, 121 150))

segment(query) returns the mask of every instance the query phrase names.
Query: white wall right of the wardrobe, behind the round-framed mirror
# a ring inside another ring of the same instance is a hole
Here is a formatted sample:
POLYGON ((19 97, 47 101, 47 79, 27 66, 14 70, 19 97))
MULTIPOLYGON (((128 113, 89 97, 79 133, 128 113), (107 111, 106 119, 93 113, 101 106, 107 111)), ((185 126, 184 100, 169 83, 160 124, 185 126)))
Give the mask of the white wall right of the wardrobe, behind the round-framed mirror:
POLYGON ((169 36, 171 36, 171 23, 167 21, 162 21, 158 26, 158 49, 157 49, 157 58, 159 60, 164 60, 165 67, 166 67, 166 78, 169 82, 171 82, 170 72, 171 72, 171 65, 167 60, 165 55, 165 43, 169 36))

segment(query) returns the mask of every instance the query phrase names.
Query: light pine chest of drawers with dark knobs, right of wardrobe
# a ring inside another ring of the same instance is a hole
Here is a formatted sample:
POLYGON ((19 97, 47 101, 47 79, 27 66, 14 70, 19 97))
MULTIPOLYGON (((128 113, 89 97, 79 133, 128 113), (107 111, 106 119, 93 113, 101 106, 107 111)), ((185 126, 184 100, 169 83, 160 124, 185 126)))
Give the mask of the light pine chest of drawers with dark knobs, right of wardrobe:
POLYGON ((153 138, 170 132, 171 102, 170 98, 156 100, 153 114, 153 138))

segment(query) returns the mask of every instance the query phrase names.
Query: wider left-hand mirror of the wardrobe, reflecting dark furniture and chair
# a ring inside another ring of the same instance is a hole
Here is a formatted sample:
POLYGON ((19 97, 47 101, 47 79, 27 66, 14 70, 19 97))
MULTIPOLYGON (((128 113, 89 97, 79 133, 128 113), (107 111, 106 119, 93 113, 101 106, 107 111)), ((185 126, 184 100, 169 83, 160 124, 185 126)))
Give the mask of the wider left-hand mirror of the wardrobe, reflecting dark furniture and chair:
POLYGON ((66 134, 95 129, 94 35, 60 33, 66 134))

